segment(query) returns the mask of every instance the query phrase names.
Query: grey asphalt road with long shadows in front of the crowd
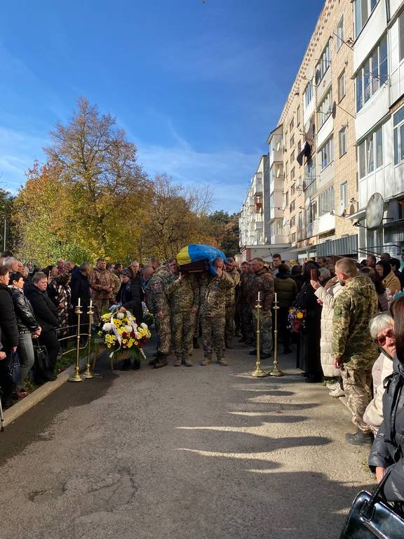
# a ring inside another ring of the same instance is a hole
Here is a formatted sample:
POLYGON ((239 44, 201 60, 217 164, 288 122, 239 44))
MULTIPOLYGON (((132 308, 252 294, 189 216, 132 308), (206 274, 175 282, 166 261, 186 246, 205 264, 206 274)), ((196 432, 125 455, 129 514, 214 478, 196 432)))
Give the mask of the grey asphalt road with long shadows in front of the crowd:
POLYGON ((348 411, 292 357, 261 379, 245 349, 227 359, 105 364, 25 413, 0 434, 1 538, 338 538, 373 482, 348 411))

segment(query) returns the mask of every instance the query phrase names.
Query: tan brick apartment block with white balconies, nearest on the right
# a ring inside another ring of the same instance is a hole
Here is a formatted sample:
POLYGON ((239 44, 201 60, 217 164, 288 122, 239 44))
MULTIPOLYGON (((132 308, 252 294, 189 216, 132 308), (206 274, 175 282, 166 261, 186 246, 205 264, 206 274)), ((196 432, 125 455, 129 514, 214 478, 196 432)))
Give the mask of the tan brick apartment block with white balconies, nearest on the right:
POLYGON ((269 252, 284 249, 300 260, 398 254, 404 245, 404 1, 325 1, 267 143, 262 238, 269 252), (370 228, 365 211, 377 192, 383 215, 370 228))

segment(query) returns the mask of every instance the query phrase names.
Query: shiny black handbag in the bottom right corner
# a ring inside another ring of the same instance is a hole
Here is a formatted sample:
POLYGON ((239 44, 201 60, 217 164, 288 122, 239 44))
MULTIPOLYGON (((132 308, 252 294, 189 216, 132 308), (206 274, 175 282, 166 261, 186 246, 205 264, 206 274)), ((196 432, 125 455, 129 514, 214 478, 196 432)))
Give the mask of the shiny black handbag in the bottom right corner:
POLYGON ((404 519, 382 499, 382 488, 389 477, 384 474, 375 492, 361 491, 351 506, 339 539, 401 539, 404 519))

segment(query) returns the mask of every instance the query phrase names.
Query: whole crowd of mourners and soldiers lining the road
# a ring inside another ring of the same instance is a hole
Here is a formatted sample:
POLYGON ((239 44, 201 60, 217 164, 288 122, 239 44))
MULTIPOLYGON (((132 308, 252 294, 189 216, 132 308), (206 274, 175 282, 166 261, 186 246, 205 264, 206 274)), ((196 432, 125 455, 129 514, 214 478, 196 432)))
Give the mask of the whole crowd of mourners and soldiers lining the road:
MULTIPOLYGON (((130 310, 139 324, 148 310, 157 335, 150 364, 162 368, 170 354, 174 366, 193 366, 200 336, 202 366, 214 359, 227 366, 226 349, 233 348, 234 337, 256 356, 258 320, 260 357, 271 358, 276 304, 283 353, 296 352, 307 382, 323 382, 331 397, 344 398, 357 429, 346 441, 371 447, 377 478, 389 470, 386 493, 404 499, 404 252, 402 260, 384 253, 379 260, 328 256, 303 265, 278 254, 271 264, 254 258, 238 266, 233 258, 217 258, 212 272, 194 273, 181 272, 175 258, 163 263, 152 258, 145 265, 135 260, 128 267, 104 258, 95 267, 60 259, 41 270, 4 254, 0 387, 6 406, 28 393, 37 343, 48 353, 48 368, 39 378, 55 379, 60 342, 76 331, 78 305, 84 339, 114 305, 130 310), (15 354, 18 379, 11 369, 15 354)), ((130 360, 122 368, 131 368, 130 360)))

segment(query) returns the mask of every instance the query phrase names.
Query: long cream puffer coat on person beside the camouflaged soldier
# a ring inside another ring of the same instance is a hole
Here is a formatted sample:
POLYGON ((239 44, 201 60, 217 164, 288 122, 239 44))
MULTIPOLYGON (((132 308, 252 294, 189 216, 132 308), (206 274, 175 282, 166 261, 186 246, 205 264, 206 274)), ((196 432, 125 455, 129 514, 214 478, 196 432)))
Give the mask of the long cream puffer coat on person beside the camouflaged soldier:
POLYGON ((334 316, 335 300, 344 287, 336 282, 330 287, 317 288, 315 294, 319 300, 323 302, 323 310, 321 311, 321 368, 324 376, 336 377, 341 375, 339 368, 332 365, 332 317, 334 316))

